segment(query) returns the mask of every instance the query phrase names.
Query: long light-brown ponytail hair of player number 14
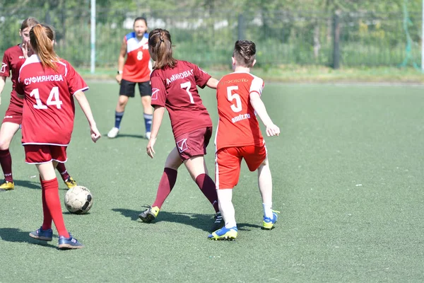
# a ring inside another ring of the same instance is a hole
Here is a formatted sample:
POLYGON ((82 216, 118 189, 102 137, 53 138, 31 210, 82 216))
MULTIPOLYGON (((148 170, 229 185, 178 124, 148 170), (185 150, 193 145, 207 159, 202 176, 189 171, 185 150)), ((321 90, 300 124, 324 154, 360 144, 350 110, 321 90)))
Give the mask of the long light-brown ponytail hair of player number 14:
POLYGON ((37 24, 30 30, 31 47, 40 58, 43 67, 49 67, 57 71, 54 61, 59 57, 53 49, 54 31, 49 25, 37 24))

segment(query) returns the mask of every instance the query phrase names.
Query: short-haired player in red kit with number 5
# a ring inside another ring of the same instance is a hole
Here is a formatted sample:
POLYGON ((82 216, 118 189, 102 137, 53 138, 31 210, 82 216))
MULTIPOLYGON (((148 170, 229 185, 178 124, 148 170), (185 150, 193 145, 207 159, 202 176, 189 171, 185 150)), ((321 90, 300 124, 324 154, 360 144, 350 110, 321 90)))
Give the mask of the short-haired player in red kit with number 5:
POLYGON ((232 188, 237 185, 240 163, 245 159, 250 171, 258 170, 258 184, 264 206, 264 229, 272 229, 277 214, 272 210, 272 179, 265 141, 255 112, 266 126, 266 134, 275 136, 280 129, 273 124, 261 100, 264 81, 250 73, 256 59, 256 46, 248 40, 237 40, 232 53, 234 72, 223 76, 216 88, 218 129, 216 131, 216 189, 225 226, 208 238, 237 237, 232 188))

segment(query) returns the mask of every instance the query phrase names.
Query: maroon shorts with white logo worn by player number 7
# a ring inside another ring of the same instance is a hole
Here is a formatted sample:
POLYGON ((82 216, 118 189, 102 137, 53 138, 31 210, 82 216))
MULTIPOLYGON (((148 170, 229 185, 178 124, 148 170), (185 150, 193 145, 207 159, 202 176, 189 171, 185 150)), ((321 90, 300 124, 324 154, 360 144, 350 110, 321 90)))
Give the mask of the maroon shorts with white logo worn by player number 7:
POLYGON ((195 129, 192 132, 182 134, 175 139, 175 144, 182 161, 193 156, 205 155, 206 147, 212 137, 212 127, 195 129))

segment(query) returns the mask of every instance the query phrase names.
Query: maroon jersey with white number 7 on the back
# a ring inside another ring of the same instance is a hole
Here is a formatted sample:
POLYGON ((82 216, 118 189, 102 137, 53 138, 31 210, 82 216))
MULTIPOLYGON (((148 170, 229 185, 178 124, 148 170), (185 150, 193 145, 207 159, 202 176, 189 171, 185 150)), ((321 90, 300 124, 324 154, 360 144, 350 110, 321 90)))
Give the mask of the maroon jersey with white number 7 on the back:
POLYGON ((195 64, 179 60, 174 69, 165 67, 152 72, 151 105, 166 107, 175 138, 195 129, 212 127, 196 87, 204 88, 209 79, 211 75, 195 64))

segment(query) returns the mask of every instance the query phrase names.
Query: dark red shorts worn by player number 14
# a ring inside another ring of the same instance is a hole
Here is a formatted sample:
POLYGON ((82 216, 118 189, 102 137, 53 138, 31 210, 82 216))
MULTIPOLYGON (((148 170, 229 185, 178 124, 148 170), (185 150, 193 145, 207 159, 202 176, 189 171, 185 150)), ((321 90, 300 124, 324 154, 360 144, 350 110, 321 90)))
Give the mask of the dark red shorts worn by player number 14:
POLYGON ((42 164, 51 161, 66 162, 66 146, 50 146, 48 144, 25 144, 25 162, 42 164))

